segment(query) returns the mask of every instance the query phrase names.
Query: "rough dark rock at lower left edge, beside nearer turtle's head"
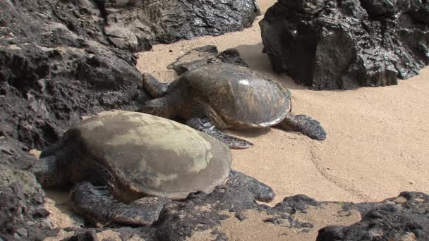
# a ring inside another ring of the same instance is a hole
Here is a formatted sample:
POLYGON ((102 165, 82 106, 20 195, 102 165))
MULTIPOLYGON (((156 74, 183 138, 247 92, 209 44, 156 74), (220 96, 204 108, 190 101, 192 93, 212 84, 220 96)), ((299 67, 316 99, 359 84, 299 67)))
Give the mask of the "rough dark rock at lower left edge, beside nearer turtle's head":
POLYGON ((0 137, 0 240, 37 240, 55 235, 45 219, 44 191, 32 173, 36 161, 28 149, 8 137, 0 137))

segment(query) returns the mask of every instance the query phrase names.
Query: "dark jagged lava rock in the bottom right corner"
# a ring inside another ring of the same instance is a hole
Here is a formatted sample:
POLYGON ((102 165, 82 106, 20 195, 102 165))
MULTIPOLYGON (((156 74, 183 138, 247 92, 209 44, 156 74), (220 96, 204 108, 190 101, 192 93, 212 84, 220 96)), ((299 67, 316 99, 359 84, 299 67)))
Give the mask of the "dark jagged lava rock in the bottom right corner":
POLYGON ((429 195, 401 192, 368 211, 362 220, 349 226, 321 228, 318 241, 339 240, 428 240, 429 195))

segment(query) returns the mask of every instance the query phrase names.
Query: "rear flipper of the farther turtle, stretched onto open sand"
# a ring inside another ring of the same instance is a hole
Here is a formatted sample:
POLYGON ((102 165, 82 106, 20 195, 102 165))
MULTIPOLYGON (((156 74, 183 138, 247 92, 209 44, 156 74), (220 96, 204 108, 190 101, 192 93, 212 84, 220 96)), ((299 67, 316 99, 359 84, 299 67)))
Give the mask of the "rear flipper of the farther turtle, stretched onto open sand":
POLYGON ((327 137, 320 122, 306 115, 294 116, 289 113, 278 126, 284 130, 297 130, 315 140, 325 140, 327 137))

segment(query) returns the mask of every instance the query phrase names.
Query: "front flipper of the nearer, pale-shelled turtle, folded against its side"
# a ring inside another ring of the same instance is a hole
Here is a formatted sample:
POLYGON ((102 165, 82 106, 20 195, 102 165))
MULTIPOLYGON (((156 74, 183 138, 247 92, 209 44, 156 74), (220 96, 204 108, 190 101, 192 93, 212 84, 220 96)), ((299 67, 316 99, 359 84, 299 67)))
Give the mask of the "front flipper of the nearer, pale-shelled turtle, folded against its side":
POLYGON ((92 224, 140 226, 157 221, 159 212, 169 199, 143 197, 123 204, 111 196, 107 187, 81 182, 73 187, 71 202, 73 209, 92 224))

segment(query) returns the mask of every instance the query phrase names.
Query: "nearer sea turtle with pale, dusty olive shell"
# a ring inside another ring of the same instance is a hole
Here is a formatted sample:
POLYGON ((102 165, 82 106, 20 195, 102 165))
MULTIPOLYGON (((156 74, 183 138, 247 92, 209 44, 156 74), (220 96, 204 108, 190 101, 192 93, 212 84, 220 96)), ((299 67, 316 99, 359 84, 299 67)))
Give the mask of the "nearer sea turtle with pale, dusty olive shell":
POLYGON ((249 190, 270 202, 274 192, 230 169, 225 144, 165 118, 107 111, 68 129, 33 167, 43 187, 73 185, 73 209, 92 223, 149 225, 164 204, 217 185, 249 190))

